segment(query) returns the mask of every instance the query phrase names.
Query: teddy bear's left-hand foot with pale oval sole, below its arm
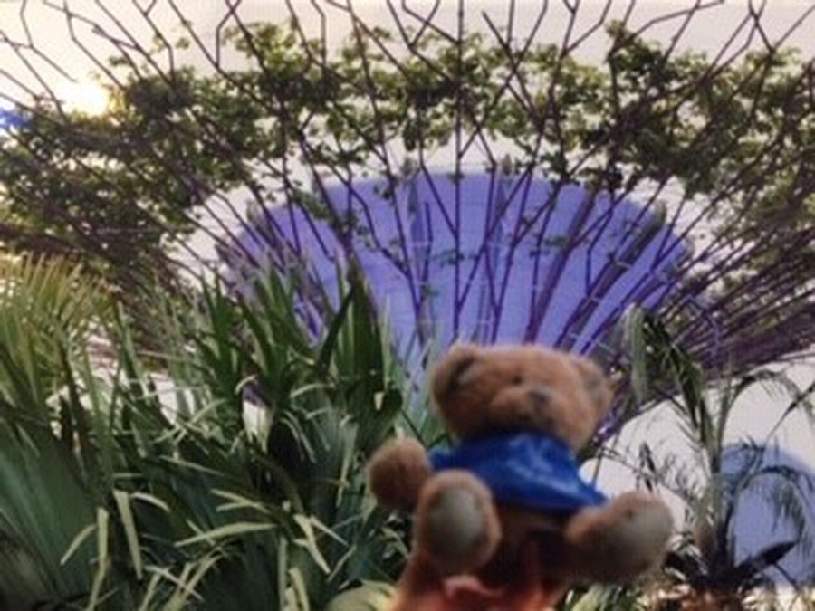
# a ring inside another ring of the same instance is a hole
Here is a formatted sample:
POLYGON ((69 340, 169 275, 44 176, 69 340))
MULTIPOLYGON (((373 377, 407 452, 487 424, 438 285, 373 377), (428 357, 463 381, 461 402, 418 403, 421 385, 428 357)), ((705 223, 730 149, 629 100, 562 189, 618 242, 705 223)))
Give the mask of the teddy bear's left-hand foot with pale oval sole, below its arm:
POLYGON ((439 473, 427 482, 416 516, 417 549, 443 575, 483 566, 501 539, 492 494, 464 471, 439 473))

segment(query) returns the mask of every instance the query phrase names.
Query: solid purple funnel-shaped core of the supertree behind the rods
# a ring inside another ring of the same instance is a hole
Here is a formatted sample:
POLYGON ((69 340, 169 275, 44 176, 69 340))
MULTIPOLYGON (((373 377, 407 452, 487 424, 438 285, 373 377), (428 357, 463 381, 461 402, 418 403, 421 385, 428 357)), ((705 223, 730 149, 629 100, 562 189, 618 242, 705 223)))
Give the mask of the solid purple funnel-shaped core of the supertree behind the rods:
POLYGON ((333 298, 338 263, 359 266, 402 348, 531 341, 607 355, 624 310, 656 309, 688 254, 653 208, 530 172, 418 171, 315 191, 311 205, 254 219, 235 252, 333 298))

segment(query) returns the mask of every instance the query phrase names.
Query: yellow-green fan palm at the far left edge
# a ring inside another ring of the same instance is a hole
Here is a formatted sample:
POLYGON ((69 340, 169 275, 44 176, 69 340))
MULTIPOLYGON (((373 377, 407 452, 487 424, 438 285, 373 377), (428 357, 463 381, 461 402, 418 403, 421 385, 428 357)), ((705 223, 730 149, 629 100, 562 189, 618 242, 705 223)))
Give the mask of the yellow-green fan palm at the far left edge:
MULTIPOLYGON (((70 601, 90 586, 82 549, 63 554, 94 520, 83 473, 95 459, 74 445, 89 416, 61 392, 62 370, 80 357, 108 313, 99 282, 81 266, 0 258, 0 606, 70 601)), ((88 353, 84 353, 86 356, 88 353)))

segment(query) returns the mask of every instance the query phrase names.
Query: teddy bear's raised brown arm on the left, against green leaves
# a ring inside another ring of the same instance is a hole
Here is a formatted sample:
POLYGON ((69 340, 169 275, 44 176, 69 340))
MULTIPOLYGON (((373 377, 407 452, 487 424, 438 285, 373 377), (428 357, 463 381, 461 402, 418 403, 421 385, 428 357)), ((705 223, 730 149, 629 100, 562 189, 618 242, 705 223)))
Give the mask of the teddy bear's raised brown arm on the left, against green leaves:
POLYGON ((419 491, 431 474, 425 448, 415 439, 399 439, 383 445, 368 466, 374 496, 391 510, 413 510, 419 491))

